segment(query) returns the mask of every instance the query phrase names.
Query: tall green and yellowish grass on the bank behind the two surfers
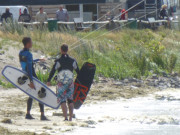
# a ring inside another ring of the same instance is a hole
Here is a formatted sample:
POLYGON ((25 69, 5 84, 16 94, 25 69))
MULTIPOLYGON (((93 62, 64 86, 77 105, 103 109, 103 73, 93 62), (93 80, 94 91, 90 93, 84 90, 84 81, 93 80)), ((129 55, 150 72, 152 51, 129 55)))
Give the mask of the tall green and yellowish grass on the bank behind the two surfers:
MULTIPOLYGON (((160 28, 123 29, 107 33, 106 30, 95 32, 48 32, 38 29, 21 29, 12 25, 12 29, 0 36, 5 40, 21 42, 24 36, 33 39, 33 51, 40 50, 47 56, 55 56, 62 43, 70 46, 70 55, 77 59, 81 66, 84 62, 92 62, 97 66, 97 76, 114 79, 141 78, 153 73, 180 73, 180 32, 160 28), (107 33, 107 34, 105 34, 107 33), (102 36, 103 35, 103 36, 102 36), (79 41, 79 39, 86 37, 79 41)), ((53 63, 53 62, 52 62, 53 63)), ((48 72, 38 72, 41 81, 46 82, 48 72)))

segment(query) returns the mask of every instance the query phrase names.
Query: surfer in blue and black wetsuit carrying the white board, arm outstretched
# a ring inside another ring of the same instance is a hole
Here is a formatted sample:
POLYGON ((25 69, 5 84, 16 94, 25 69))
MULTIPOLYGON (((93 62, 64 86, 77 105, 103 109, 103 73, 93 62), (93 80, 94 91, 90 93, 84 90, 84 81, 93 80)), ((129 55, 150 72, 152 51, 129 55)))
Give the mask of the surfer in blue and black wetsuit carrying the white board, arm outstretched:
MULTIPOLYGON (((29 37, 24 37, 22 40, 22 43, 24 45, 24 48, 19 52, 19 60, 22 67, 22 70, 28 73, 30 84, 29 87, 32 89, 36 89, 33 83, 33 77, 37 78, 37 75, 35 73, 35 69, 33 67, 33 62, 37 61, 44 61, 44 59, 37 59, 33 60, 33 55, 29 51, 32 48, 32 40, 29 37)), ((29 97, 27 100, 27 114, 26 119, 34 119, 31 114, 31 107, 32 107, 33 99, 29 97)), ((48 120, 44 115, 44 105, 39 103, 40 112, 41 112, 41 120, 48 120)))

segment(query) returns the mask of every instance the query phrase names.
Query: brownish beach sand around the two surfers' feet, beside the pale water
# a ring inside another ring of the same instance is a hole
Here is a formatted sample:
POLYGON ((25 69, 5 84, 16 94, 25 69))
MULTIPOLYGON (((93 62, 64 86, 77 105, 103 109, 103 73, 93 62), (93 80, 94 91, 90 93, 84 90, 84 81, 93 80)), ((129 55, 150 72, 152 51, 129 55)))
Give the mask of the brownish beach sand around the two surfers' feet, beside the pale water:
MULTIPOLYGON (((55 87, 51 87, 51 89, 55 91, 55 87)), ((152 92, 151 89, 140 88, 132 90, 118 88, 117 86, 112 87, 110 83, 97 83, 92 86, 91 92, 83 106, 98 105, 109 100, 145 96, 152 92)), ((73 132, 79 127, 94 128, 96 123, 104 122, 103 119, 93 119, 93 116, 89 119, 78 119, 76 117, 72 122, 64 122, 61 109, 53 110, 49 107, 45 107, 45 114, 50 121, 40 121, 37 101, 33 102, 31 112, 35 120, 26 120, 27 99, 28 96, 18 89, 0 90, 0 134, 60 134, 73 132)))

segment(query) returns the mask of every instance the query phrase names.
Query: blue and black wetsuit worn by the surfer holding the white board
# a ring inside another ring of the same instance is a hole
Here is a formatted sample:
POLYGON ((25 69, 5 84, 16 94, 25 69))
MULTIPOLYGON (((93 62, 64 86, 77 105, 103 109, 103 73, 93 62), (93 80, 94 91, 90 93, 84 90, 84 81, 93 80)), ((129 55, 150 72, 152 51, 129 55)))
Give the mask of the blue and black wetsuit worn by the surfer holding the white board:
MULTIPOLYGON (((22 70, 28 73, 30 81, 33 80, 33 77, 37 78, 35 69, 33 67, 33 62, 37 62, 39 61, 39 59, 33 60, 33 56, 31 52, 28 49, 24 48, 19 53, 19 60, 20 60, 22 70)), ((33 102, 33 99, 29 97, 27 101, 27 111, 31 110, 32 102, 33 102)), ((40 112, 44 112, 44 105, 39 103, 39 107, 40 107, 40 112)))

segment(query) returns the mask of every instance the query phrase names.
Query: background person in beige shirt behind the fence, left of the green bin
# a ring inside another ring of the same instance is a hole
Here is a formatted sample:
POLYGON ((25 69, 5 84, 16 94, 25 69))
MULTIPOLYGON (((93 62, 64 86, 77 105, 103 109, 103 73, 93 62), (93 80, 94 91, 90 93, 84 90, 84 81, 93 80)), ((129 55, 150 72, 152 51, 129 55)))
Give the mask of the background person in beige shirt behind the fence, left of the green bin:
POLYGON ((37 14, 36 14, 35 21, 36 22, 40 22, 42 24, 47 21, 47 13, 44 12, 44 8, 43 7, 39 8, 39 12, 37 12, 37 14))

